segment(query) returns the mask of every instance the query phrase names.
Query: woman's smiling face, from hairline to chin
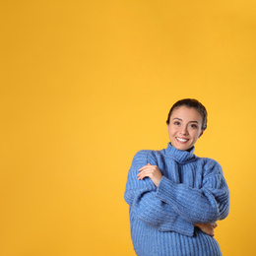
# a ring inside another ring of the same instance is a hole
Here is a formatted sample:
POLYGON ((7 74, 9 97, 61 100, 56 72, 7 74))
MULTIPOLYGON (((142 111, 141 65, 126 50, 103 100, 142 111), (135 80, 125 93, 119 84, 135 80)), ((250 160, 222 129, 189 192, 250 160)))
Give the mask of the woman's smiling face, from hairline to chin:
POLYGON ((167 124, 167 132, 171 146, 180 151, 192 148, 203 134, 203 118, 193 107, 179 106, 175 108, 167 124))

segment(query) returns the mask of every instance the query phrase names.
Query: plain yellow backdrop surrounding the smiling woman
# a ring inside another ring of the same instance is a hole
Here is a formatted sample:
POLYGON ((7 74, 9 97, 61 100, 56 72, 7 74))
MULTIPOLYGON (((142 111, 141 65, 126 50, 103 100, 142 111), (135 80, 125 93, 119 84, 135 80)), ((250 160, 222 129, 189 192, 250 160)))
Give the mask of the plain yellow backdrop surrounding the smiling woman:
POLYGON ((0 255, 132 256, 123 200, 135 153, 201 100, 196 155, 231 193, 216 237, 256 255, 254 1, 2 1, 0 255))

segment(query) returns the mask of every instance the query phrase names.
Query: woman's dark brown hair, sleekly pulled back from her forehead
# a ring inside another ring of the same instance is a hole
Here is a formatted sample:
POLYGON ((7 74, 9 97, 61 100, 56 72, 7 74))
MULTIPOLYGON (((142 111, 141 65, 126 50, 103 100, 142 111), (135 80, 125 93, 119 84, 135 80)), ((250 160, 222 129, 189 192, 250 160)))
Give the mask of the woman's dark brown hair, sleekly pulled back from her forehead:
POLYGON ((207 128, 207 111, 206 111, 205 106, 195 98, 184 98, 184 99, 180 99, 176 103, 174 103, 169 110, 166 123, 169 124, 169 117, 172 114, 173 110, 182 105, 195 108, 201 114, 201 116, 203 118, 203 123, 202 123, 201 128, 203 130, 205 130, 207 128))

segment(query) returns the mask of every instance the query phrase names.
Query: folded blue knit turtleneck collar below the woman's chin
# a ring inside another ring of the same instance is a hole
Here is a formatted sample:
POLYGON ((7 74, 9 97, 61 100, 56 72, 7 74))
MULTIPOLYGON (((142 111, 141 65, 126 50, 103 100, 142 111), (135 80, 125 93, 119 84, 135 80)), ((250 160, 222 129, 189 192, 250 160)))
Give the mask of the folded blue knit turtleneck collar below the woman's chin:
POLYGON ((165 155, 169 156, 178 162, 188 162, 191 160, 195 160, 196 156, 194 155, 195 147, 190 149, 190 151, 180 151, 176 148, 172 147, 170 143, 168 143, 168 147, 165 150, 165 155))

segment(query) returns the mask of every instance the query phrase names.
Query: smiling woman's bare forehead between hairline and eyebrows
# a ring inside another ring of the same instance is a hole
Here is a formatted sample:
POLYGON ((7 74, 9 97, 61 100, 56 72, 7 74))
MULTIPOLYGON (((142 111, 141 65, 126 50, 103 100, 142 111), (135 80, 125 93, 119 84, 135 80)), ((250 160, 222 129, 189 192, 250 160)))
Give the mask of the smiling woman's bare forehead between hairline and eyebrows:
POLYGON ((201 113, 194 107, 179 106, 173 109, 170 119, 179 118, 185 121, 202 122, 201 113))

